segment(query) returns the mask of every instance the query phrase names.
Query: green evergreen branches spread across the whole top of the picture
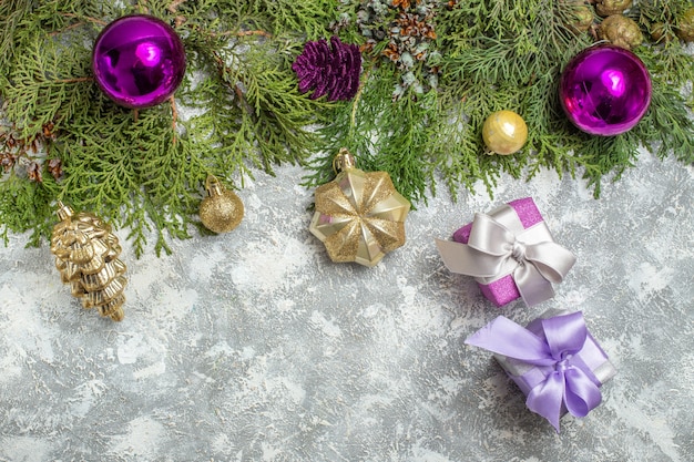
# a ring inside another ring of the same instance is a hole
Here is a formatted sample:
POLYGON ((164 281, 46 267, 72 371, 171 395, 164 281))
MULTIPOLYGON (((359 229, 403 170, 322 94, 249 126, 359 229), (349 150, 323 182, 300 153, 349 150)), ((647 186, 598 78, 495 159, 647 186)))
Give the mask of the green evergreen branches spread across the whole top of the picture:
POLYGON ((455 198, 480 184, 491 195, 502 172, 528 179, 544 168, 583 176, 599 196, 640 146, 693 162, 694 99, 683 89, 694 61, 680 38, 691 1, 642 0, 625 12, 647 39, 634 52, 651 72, 653 99, 636 127, 611 137, 574 129, 557 96, 563 66, 596 41, 594 13, 592 27, 576 29, 585 8, 580 0, 6 0, 1 233, 33 229, 40 243, 61 199, 127 227, 137 254, 152 235, 157 253, 170 251, 169 238, 200 228, 207 174, 243 187, 256 172, 307 163, 306 185, 315 186, 333 177, 340 147, 360 168, 389 172, 415 204, 437 181, 455 198), (98 33, 129 13, 172 23, 188 61, 175 97, 143 111, 113 104, 91 72, 98 33), (361 86, 349 102, 300 94, 292 70, 307 40, 333 34, 363 49, 361 86), (511 156, 488 155, 481 140, 498 110, 518 112, 530 129, 511 156))

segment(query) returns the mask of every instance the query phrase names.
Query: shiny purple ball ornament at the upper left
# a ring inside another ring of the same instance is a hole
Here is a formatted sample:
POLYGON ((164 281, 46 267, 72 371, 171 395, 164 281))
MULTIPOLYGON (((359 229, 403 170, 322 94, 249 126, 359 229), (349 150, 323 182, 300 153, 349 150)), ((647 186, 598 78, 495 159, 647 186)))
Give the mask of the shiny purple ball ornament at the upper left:
POLYGON ((166 101, 183 81, 185 51, 164 21, 126 16, 99 34, 92 69, 101 90, 116 104, 149 107, 166 101))

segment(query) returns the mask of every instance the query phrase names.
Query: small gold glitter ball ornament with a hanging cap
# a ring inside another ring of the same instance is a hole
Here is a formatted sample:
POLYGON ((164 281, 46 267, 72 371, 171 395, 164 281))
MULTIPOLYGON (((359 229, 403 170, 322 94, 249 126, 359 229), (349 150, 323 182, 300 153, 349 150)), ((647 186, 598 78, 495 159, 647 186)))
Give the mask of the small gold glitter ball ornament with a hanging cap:
POLYGON ((205 181, 207 197, 200 204, 200 220, 213 233, 228 233, 244 217, 244 203, 233 191, 226 189, 214 175, 205 181))

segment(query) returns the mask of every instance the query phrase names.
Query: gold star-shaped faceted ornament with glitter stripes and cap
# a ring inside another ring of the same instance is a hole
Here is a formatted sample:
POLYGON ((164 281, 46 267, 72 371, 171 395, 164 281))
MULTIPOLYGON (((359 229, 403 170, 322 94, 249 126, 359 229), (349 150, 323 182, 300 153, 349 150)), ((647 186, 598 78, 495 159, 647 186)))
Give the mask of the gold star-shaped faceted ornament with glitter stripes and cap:
POLYGON ((405 244, 410 203, 386 172, 364 172, 343 148, 333 161, 335 179, 316 189, 316 212, 308 229, 335 263, 372 267, 405 244))

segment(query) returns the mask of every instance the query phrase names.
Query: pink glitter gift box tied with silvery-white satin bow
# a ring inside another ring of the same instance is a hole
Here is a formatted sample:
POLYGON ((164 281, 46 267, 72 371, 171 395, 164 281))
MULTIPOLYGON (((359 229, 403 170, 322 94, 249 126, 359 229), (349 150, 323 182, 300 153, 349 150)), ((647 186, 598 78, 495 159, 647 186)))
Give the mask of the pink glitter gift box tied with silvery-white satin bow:
POLYGON ((554 243, 530 197, 504 204, 453 234, 437 239, 446 267, 472 276, 482 294, 501 307, 521 297, 533 306, 554 296, 575 256, 554 243))

